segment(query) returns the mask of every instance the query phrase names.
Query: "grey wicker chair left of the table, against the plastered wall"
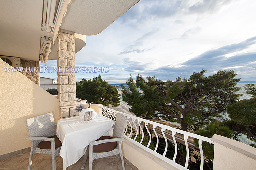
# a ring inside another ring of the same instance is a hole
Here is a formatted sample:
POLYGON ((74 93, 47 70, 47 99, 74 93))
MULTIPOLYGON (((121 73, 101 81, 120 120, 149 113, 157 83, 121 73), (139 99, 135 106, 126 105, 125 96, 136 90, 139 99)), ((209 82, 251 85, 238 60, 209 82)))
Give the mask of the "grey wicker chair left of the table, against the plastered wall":
POLYGON ((56 143, 60 142, 57 141, 58 138, 56 136, 55 138, 51 138, 56 135, 56 125, 54 123, 52 112, 27 119, 26 124, 29 133, 29 137, 27 138, 27 140, 31 140, 31 151, 29 156, 28 170, 31 170, 32 157, 34 153, 52 155, 52 168, 53 170, 56 170, 55 157, 59 155, 61 146, 56 146, 56 143), (38 147, 38 145, 42 144, 43 142, 44 145, 48 145, 47 147, 49 149, 40 149, 38 147), (51 144, 49 142, 51 142, 51 144))

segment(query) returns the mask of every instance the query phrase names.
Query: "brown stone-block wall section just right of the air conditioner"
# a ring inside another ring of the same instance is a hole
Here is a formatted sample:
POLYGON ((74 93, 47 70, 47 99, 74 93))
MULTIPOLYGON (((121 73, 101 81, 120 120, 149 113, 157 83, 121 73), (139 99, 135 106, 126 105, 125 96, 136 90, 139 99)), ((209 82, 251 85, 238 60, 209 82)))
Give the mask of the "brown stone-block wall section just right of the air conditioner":
POLYGON ((40 85, 39 61, 20 59, 20 63, 23 67, 22 74, 29 78, 35 84, 40 85), (28 71, 26 71, 26 68, 24 67, 30 68, 28 68, 28 71))

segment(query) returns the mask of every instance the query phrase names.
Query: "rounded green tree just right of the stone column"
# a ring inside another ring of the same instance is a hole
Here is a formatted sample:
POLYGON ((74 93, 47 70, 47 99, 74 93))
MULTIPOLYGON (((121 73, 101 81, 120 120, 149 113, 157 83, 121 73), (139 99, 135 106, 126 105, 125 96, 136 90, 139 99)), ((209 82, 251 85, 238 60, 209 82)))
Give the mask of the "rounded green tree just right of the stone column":
POLYGON ((120 94, 115 87, 111 86, 101 76, 93 77, 93 79, 82 79, 76 84, 77 98, 86 99, 88 102, 103 104, 114 107, 120 104, 120 94))

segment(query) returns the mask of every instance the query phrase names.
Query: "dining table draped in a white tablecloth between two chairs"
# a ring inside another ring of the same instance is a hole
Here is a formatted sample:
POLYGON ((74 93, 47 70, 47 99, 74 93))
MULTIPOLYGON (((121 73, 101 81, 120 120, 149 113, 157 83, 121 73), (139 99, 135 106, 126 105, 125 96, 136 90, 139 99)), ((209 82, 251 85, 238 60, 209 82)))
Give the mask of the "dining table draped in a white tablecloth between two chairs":
POLYGON ((99 139, 114 125, 113 120, 100 114, 88 123, 79 122, 79 116, 58 120, 56 135, 62 142, 60 156, 63 158, 63 170, 82 158, 90 142, 99 139))

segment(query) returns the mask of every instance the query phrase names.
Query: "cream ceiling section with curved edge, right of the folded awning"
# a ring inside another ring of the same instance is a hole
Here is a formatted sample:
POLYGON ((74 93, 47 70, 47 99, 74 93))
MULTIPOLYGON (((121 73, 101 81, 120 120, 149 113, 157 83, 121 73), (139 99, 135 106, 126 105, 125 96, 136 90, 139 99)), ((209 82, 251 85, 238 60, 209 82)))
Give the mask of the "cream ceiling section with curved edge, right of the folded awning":
POLYGON ((101 33, 139 0, 73 0, 61 28, 83 35, 101 33))

